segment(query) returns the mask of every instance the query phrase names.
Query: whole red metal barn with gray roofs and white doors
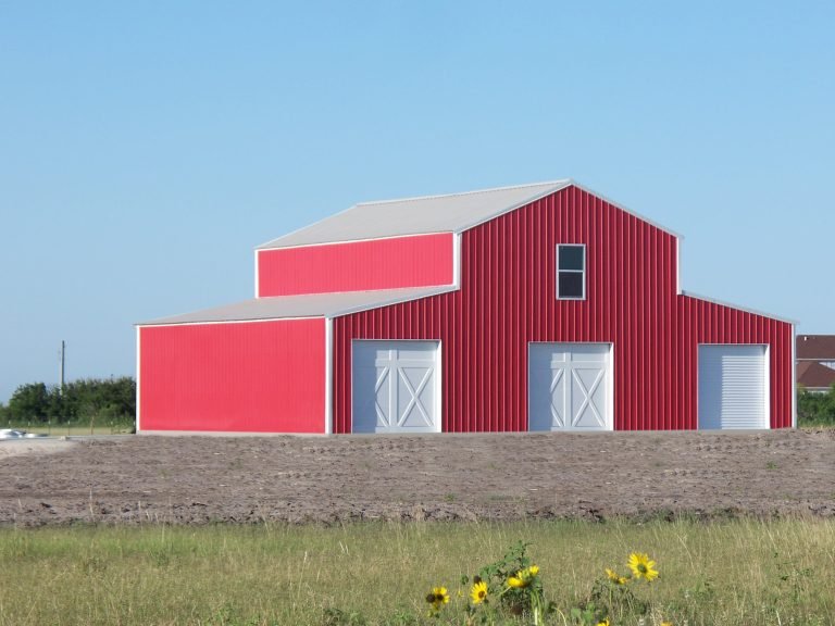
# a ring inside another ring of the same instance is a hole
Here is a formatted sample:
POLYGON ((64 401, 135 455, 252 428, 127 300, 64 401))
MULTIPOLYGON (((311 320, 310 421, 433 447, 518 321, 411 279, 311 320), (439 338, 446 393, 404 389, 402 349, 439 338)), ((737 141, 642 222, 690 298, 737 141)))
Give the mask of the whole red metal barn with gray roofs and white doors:
POLYGON ((684 292, 678 243, 571 180, 357 204, 138 326, 138 430, 793 426, 793 324, 684 292))

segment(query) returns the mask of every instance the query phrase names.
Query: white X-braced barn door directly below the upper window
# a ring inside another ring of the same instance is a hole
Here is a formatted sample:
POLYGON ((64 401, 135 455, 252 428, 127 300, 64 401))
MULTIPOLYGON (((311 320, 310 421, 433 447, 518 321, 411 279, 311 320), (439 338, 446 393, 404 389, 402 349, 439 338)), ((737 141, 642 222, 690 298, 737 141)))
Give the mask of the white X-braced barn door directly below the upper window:
POLYGON ((531 343, 528 429, 611 430, 610 343, 531 343))

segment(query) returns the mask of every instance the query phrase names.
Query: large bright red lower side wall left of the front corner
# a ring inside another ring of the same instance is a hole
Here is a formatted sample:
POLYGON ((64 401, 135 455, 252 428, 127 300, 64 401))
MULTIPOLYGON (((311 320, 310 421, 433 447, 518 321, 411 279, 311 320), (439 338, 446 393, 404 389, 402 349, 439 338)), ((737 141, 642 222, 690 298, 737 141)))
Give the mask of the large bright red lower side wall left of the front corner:
POLYGON ((139 334, 141 430, 324 433, 324 320, 139 334))

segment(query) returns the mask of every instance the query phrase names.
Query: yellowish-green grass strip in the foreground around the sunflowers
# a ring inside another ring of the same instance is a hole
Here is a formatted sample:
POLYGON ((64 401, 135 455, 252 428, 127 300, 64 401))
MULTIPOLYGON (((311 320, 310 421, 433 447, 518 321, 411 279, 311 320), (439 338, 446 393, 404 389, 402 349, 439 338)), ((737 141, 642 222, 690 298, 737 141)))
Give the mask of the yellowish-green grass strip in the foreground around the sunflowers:
POLYGON ((794 519, 4 528, 0 624, 324 625, 327 610, 331 624, 428 624, 437 585, 453 596, 443 615, 463 624, 461 575, 520 539, 566 615, 641 551, 661 573, 636 588, 648 626, 833 623, 835 522, 794 519))

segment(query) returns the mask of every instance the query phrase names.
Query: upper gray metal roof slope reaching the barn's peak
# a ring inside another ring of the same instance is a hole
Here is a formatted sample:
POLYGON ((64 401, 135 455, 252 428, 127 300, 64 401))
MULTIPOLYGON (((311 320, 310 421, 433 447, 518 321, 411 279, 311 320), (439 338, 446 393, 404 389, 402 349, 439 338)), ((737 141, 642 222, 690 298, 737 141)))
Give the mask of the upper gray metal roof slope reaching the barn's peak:
POLYGON ((273 239, 257 249, 425 233, 461 233, 572 184, 572 180, 564 179, 448 196, 363 202, 300 230, 273 239))

